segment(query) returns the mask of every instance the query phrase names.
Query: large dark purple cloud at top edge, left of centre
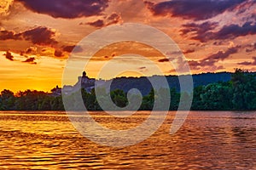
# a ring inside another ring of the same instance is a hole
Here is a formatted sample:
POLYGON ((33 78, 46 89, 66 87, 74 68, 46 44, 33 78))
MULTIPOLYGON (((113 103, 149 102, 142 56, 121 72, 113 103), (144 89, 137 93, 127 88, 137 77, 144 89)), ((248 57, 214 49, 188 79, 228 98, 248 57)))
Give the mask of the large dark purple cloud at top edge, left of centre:
POLYGON ((108 0, 16 0, 39 14, 54 18, 73 19, 100 15, 108 7, 108 0))

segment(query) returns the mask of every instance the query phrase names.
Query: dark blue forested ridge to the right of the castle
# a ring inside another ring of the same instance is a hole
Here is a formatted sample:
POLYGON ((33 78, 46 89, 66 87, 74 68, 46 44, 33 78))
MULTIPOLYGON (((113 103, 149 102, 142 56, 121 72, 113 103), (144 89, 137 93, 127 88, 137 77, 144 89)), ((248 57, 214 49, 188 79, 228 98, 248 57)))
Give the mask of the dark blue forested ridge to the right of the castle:
MULTIPOLYGON (((202 73, 193 75, 194 87, 207 85, 212 82, 228 82, 231 79, 232 73, 230 72, 219 72, 219 73, 202 73)), ((154 76, 160 77, 160 76, 154 76)), ((187 76, 182 76, 187 77, 187 76)), ((152 77, 149 77, 152 78, 152 77)), ((176 88, 179 91, 179 82, 177 76, 166 76, 166 80, 170 88, 176 88)), ((113 89, 122 89, 125 92, 128 92, 131 88, 137 88, 141 91, 143 95, 147 95, 152 86, 148 81, 148 77, 118 77, 114 78, 111 84, 111 90, 113 89)))

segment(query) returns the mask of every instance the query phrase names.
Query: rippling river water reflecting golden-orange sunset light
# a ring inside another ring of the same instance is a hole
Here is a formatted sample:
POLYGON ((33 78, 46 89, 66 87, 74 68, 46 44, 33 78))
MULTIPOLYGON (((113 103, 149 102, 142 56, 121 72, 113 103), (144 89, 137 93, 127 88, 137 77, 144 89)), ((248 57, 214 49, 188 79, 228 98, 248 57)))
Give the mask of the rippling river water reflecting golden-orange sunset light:
MULTIPOLYGON (((92 113, 116 129, 135 127, 148 114, 116 119, 92 113)), ((170 135, 174 115, 169 112, 142 143, 113 148, 85 139, 65 112, 2 111, 0 169, 256 169, 256 112, 190 111, 183 127, 170 135)))

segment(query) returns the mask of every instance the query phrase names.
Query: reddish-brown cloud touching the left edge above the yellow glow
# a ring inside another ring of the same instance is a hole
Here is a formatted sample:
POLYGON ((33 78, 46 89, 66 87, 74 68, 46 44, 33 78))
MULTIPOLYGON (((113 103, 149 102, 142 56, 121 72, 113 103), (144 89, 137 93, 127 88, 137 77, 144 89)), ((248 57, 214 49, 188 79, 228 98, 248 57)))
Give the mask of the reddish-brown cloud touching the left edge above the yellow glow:
POLYGON ((0 31, 0 40, 26 40, 37 45, 54 45, 55 31, 47 27, 36 27, 31 30, 15 33, 14 31, 0 31))

